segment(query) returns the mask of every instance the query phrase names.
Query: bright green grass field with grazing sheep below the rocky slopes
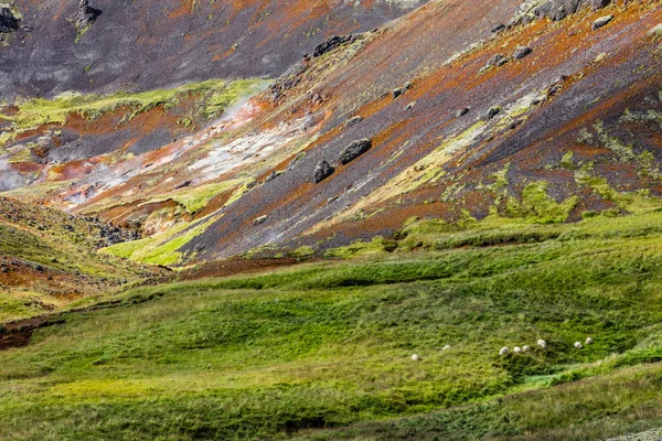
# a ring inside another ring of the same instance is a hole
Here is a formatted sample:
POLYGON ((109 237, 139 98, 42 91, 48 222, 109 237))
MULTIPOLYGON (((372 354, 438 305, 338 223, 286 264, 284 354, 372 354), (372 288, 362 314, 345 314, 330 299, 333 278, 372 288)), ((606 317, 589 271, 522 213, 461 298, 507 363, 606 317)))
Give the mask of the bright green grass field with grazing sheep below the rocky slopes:
POLYGON ((0 438, 590 440, 660 427, 661 225, 650 212, 419 228, 437 250, 107 295, 122 302, 65 312, 0 353, 0 438))

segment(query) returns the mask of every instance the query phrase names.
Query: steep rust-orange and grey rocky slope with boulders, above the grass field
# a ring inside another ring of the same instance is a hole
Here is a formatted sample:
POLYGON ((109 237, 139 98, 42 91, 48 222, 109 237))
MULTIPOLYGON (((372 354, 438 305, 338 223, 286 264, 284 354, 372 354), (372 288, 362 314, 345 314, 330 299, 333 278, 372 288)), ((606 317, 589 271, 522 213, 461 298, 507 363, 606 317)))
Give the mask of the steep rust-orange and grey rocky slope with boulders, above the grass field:
MULTIPOLYGON (((195 237, 179 251, 201 261, 265 246, 324 250, 391 235, 414 216, 544 223, 659 207, 660 3, 581 8, 491 35, 494 22, 521 14, 516 1, 433 2, 305 63, 278 83, 289 88, 277 106, 271 89, 247 105, 250 117, 233 120, 241 130, 207 131, 205 150, 150 171, 171 185, 193 176, 193 185, 229 185, 197 214, 186 229, 195 237), (416 44, 399 44, 404 35, 416 44), (513 60, 520 46, 532 52, 513 60), (500 54, 505 63, 488 66, 500 54), (353 116, 361 121, 345 127, 353 116), (312 182, 320 161, 338 165, 364 138, 366 153, 312 182)), ((162 192, 141 193, 145 182, 137 174, 77 209, 162 192)), ((134 205, 118 208, 131 217, 134 205)))

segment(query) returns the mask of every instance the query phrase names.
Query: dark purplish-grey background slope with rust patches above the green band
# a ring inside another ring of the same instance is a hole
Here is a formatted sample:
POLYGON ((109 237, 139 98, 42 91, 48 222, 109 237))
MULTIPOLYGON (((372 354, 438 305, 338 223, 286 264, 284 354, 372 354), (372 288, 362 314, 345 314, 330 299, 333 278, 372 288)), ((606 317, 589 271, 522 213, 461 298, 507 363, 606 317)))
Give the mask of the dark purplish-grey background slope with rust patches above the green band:
POLYGON ((93 0, 100 14, 82 22, 81 1, 12 0, 22 29, 0 51, 0 97, 274 77, 332 33, 370 30, 419 3, 93 0))

